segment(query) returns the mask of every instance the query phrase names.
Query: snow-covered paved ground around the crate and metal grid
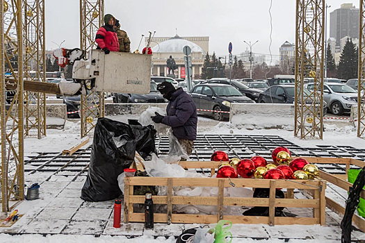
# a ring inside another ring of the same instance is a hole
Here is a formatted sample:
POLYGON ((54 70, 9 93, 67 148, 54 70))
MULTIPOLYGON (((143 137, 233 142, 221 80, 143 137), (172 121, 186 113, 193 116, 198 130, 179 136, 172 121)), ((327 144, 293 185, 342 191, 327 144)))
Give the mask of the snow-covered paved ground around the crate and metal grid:
MULTIPOLYGON (((108 117, 119 121, 138 117, 108 117)), ((266 117, 258 117, 257 124, 266 117)), ((315 145, 343 145, 365 149, 365 142, 356 137, 353 126, 343 122, 325 124, 323 140, 300 140, 294 137, 292 127, 287 130, 257 129, 236 123, 217 122, 206 117, 199 118, 198 133, 205 135, 279 135, 285 140, 302 147, 315 145)), ((67 121, 63 130, 48 129, 47 137, 38 140, 26 138, 25 155, 34 156, 42 152, 60 153, 81 142, 80 122, 67 121)), ((89 144, 92 142, 90 139, 89 144)), ((89 145, 88 144, 88 145, 89 145)), ((86 146, 88 146, 86 145, 86 146)), ((113 201, 88 203, 79 199, 86 174, 56 174, 48 172, 26 174, 27 184, 44 181, 41 185, 41 199, 24 201, 17 209, 24 216, 10 228, 0 228, 0 242, 176 242, 175 236, 191 225, 156 224, 153 231, 145 230, 143 224, 122 224, 113 228, 113 201), (50 176, 50 177, 49 177, 50 176), (47 179, 47 181, 45 181, 47 179), (74 181, 72 181, 74 180, 74 181), (133 237, 133 238, 131 238, 133 237)), ((326 195, 344 203, 346 193, 339 188, 327 188, 326 195)), ((302 196, 296 193, 295 196, 302 196)), ((326 210, 325 226, 268 226, 235 225, 232 228, 232 242, 339 242, 341 217, 326 210)), ((365 240, 365 234, 352 232, 354 240, 365 240)))

